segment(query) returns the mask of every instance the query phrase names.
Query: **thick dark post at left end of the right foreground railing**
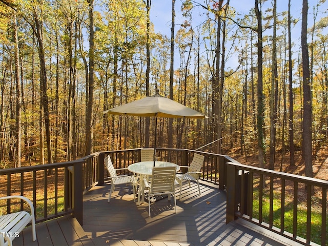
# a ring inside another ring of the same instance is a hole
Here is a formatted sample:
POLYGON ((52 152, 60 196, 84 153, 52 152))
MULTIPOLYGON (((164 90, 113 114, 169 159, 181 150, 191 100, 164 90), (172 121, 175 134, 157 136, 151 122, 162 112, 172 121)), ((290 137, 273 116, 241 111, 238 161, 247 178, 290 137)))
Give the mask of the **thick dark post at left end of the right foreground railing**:
POLYGON ((235 220, 237 217, 236 185, 237 169, 234 165, 227 163, 227 218, 226 223, 235 220))

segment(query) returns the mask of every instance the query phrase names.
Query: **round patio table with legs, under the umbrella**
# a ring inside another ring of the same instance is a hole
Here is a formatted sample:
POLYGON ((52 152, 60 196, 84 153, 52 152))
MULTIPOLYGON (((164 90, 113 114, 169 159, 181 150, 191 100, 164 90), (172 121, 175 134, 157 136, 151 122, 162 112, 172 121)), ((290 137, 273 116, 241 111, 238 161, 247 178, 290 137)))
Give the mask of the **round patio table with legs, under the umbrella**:
MULTIPOLYGON (((128 170, 132 173, 138 174, 140 185, 138 189, 138 205, 140 204, 140 196, 142 194, 142 203, 145 202, 144 196, 144 178, 148 179, 153 173, 154 161, 140 161, 131 164, 128 167, 128 170)), ((180 170, 180 166, 176 165, 175 163, 168 162, 168 161, 155 161, 155 167, 176 167, 176 171, 180 170)), ((149 201, 150 202, 150 201, 149 201)))

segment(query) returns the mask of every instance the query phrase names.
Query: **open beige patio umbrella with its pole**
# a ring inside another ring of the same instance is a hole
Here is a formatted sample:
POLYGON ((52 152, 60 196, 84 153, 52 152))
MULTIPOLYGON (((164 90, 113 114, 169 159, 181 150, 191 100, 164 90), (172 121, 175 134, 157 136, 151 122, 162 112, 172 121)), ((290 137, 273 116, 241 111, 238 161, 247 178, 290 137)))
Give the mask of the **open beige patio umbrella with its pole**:
POLYGON ((155 117, 154 165, 156 155, 157 117, 207 118, 206 115, 159 94, 132 101, 131 103, 106 110, 103 113, 155 117))

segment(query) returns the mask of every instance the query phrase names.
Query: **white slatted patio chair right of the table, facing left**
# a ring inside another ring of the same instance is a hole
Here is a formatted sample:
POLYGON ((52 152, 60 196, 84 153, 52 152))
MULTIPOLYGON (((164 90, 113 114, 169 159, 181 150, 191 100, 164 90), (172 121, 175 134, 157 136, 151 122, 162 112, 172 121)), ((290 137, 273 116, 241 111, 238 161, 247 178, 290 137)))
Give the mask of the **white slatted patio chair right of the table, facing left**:
MULTIPOLYGON (((190 181, 197 181, 198 185, 198 192, 200 195, 200 187, 199 187, 199 176, 201 174, 200 169, 203 166, 204 163, 204 156, 199 155, 199 154, 194 154, 193 160, 190 163, 190 166, 180 166, 180 168, 187 168, 187 172, 184 174, 176 174, 175 179, 180 185, 180 196, 179 199, 181 198, 181 191, 182 191, 182 184, 183 181, 188 181, 189 182, 189 187, 190 186, 190 181)), ((181 170, 180 169, 180 170, 181 170)))

